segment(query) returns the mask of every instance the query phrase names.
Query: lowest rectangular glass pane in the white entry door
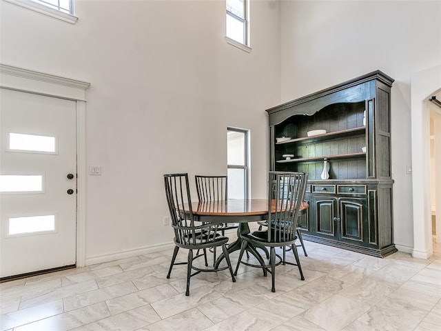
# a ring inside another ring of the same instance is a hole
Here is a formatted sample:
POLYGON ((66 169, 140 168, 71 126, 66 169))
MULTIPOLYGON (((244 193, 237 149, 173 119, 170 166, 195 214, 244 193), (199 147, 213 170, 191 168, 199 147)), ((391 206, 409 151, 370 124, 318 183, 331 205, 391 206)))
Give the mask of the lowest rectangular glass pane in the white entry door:
POLYGON ((55 215, 13 217, 9 219, 8 235, 55 230, 55 215))

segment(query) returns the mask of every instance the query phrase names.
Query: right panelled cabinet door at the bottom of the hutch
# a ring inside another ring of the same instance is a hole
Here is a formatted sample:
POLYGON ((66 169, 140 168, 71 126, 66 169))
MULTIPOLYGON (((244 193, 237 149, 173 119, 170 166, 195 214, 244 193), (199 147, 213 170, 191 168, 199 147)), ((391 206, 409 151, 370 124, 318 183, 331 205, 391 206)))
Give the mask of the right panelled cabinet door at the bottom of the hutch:
POLYGON ((340 198, 338 200, 340 205, 341 240, 352 243, 365 241, 363 233, 367 233, 367 229, 364 229, 368 217, 367 199, 340 198))

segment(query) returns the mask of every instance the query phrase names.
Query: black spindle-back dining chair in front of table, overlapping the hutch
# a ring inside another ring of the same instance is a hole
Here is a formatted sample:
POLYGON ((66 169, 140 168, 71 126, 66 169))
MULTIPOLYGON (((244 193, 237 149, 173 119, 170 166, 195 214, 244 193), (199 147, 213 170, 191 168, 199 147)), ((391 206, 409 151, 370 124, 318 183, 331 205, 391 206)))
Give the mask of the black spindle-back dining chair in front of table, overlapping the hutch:
POLYGON ((300 279, 302 281, 305 280, 295 244, 297 239, 297 218, 305 196, 305 185, 306 174, 304 172, 269 172, 267 230, 240 235, 243 242, 234 274, 237 274, 240 263, 252 267, 265 268, 271 273, 271 291, 276 292, 276 266, 291 264, 298 266, 300 279), (274 190, 278 194, 274 194, 274 190), (247 245, 250 244, 264 250, 266 247, 269 247, 269 264, 252 265, 241 261, 243 252, 247 245), (296 263, 286 261, 285 252, 287 245, 291 246, 296 263), (283 257, 276 254, 277 247, 283 248, 283 257))

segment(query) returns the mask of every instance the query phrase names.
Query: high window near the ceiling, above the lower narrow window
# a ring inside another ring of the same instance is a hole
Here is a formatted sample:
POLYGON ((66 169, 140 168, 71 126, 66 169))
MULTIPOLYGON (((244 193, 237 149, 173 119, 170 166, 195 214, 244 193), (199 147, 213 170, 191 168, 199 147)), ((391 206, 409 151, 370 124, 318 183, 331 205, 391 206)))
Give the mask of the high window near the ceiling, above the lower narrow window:
POLYGON ((249 51, 249 0, 227 0, 226 39, 249 51), (245 46, 245 48, 243 47, 245 46))

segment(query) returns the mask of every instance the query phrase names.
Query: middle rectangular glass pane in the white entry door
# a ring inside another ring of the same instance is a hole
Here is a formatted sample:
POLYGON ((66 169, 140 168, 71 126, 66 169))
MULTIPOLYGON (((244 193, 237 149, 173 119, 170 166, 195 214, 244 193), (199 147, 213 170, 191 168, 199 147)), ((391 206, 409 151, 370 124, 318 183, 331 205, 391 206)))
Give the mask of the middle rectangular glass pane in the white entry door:
POLYGON ((43 176, 37 174, 1 174, 0 192, 42 192, 43 176))

